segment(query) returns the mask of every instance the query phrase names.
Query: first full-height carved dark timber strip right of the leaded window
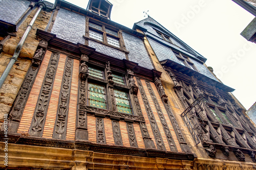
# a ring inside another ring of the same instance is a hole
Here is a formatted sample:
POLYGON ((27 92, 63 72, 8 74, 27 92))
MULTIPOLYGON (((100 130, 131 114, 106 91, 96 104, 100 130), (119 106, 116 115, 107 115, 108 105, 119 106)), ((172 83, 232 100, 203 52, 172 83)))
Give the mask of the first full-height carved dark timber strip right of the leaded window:
POLYGON ((143 100, 143 103, 144 103, 144 106, 145 106, 145 109, 146 109, 146 113, 147 113, 148 119, 150 120, 150 125, 151 125, 152 131, 153 131, 155 139, 156 139, 157 148, 159 150, 166 150, 165 146, 164 146, 164 143, 163 143, 162 136, 161 136, 159 128, 157 126, 155 116, 154 116, 154 114, 152 112, 152 109, 150 107, 150 103, 147 100, 147 97, 146 97, 145 91, 142 87, 140 79, 137 79, 137 83, 139 85, 139 90, 140 90, 141 97, 142 97, 142 100, 143 100))

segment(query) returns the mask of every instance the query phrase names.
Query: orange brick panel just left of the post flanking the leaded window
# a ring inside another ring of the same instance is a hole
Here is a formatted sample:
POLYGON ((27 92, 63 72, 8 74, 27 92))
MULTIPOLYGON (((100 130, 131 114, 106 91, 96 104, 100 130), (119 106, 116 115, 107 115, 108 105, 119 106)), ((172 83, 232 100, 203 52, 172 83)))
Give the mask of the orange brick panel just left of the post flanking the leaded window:
POLYGON ((74 60, 70 90, 67 140, 75 140, 79 60, 74 60))

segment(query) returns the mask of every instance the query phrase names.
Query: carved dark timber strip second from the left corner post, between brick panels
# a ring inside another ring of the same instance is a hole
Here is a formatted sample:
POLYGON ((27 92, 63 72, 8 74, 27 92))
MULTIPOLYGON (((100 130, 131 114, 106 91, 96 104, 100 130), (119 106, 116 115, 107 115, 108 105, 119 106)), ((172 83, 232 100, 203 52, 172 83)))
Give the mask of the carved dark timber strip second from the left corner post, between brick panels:
POLYGON ((69 57, 66 59, 60 89, 58 111, 52 136, 55 139, 66 139, 73 61, 74 60, 69 57))

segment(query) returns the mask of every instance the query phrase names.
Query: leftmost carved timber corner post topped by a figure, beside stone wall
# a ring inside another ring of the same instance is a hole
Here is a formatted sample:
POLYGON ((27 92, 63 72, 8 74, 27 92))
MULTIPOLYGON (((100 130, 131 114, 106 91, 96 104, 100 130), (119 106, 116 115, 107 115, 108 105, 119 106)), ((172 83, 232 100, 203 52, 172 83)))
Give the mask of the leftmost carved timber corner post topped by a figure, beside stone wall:
POLYGON ((48 42, 45 40, 41 40, 37 46, 37 50, 32 59, 32 64, 28 69, 28 72, 25 76, 23 84, 19 89, 17 97, 9 113, 8 132, 16 133, 18 130, 19 122, 20 122, 20 119, 22 118, 22 114, 26 106, 27 100, 29 98, 31 88, 34 84, 35 78, 37 76, 37 72, 40 68, 41 61, 45 57, 47 46, 48 46, 48 42))

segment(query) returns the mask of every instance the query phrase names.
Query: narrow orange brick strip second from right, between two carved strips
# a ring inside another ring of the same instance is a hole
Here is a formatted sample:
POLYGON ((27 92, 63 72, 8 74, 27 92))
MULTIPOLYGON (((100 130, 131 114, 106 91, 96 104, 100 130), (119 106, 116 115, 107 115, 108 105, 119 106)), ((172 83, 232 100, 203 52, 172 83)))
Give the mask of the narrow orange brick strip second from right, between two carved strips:
MULTIPOLYGON (((144 91, 145 91, 147 100, 148 100, 148 102, 150 103, 150 107, 151 107, 151 109, 152 109, 152 112, 153 112, 153 114, 154 114, 154 117, 155 117, 155 119, 156 119, 156 123, 157 123, 158 129, 159 129, 159 131, 160 131, 160 134, 161 134, 161 136, 162 136, 163 143, 164 143, 164 145, 165 145, 165 149, 166 149, 166 151, 170 151, 169 143, 168 143, 167 138, 166 138, 166 135, 165 135, 165 133, 164 133, 163 126, 162 126, 161 121, 160 121, 160 119, 159 119, 159 116, 158 116, 158 114, 157 114, 157 110, 156 110, 156 107, 155 107, 155 105, 154 105, 154 102, 153 102, 153 100, 152 100, 152 98, 151 98, 150 92, 148 91, 147 86, 146 86, 146 83, 145 83, 144 80, 141 80, 141 84, 142 84, 143 89, 144 89, 144 91)), ((153 85, 155 86, 155 84, 153 84, 153 85)), ((158 101, 158 102, 159 102, 159 101, 158 101)), ((163 108, 161 107, 161 109, 163 109, 163 108)))

